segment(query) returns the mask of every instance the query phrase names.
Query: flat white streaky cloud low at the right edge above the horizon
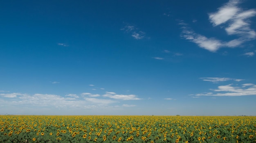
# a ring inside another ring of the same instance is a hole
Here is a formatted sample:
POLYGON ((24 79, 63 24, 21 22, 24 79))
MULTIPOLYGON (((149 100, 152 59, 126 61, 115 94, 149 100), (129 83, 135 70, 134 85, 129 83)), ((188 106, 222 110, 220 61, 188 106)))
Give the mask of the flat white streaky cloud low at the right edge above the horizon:
POLYGON ((242 86, 222 85, 218 86, 218 89, 211 89, 216 93, 200 93, 195 96, 245 96, 256 95, 256 85, 252 83, 243 84, 242 86), (218 93, 219 92, 219 93, 218 93))

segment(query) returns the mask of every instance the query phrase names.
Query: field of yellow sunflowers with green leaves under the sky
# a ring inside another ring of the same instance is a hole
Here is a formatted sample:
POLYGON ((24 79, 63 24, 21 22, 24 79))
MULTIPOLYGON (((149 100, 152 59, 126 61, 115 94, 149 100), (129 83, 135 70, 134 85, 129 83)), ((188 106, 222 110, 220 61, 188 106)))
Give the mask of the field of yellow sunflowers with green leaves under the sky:
POLYGON ((1 143, 256 143, 256 117, 0 116, 1 143))

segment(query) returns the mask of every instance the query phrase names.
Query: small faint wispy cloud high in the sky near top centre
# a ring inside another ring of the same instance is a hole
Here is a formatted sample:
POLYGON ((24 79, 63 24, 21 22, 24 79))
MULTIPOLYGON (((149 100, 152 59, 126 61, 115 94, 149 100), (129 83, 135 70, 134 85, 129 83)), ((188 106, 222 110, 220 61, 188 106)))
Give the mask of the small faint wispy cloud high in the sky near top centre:
POLYGON ((132 37, 134 39, 144 39, 146 33, 138 30, 138 28, 136 28, 135 26, 131 25, 131 24, 126 24, 126 26, 124 26, 124 28, 121 28, 120 30, 124 30, 127 33, 132 33, 132 37))

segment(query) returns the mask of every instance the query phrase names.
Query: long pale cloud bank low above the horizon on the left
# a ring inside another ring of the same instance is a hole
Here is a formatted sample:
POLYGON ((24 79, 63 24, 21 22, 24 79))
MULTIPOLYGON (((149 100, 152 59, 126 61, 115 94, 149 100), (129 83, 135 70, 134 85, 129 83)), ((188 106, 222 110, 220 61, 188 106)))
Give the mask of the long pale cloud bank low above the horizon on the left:
MULTIPOLYGON (((140 100, 136 95, 118 95, 115 92, 106 92, 105 95, 81 93, 67 94, 65 96, 54 94, 40 94, 33 95, 23 93, 1 93, 0 104, 2 106, 40 106, 44 108, 99 108, 108 107, 109 104, 121 103, 121 100, 140 100), (110 94, 112 93, 112 94, 110 94), (109 98, 109 99, 106 99, 109 98)), ((125 103, 125 102, 124 102, 125 103)), ((124 104, 125 107, 132 107, 135 105, 124 104)), ((118 105, 113 105, 118 106, 118 105)))

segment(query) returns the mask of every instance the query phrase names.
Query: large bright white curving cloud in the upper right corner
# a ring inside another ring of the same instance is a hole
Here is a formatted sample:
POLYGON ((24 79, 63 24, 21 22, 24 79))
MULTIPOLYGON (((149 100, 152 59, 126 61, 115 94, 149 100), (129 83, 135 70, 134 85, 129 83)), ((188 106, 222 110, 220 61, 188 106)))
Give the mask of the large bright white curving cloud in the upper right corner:
POLYGON ((208 38, 189 29, 183 21, 179 23, 183 29, 181 37, 211 52, 216 52, 222 47, 234 48, 246 41, 255 39, 256 32, 250 28, 249 18, 256 15, 256 10, 243 10, 238 7, 240 2, 240 0, 229 0, 229 2, 218 8, 218 11, 209 13, 209 20, 213 26, 227 24, 227 26, 222 25, 225 27, 227 35, 236 35, 238 36, 237 39, 221 41, 213 37, 208 38))

